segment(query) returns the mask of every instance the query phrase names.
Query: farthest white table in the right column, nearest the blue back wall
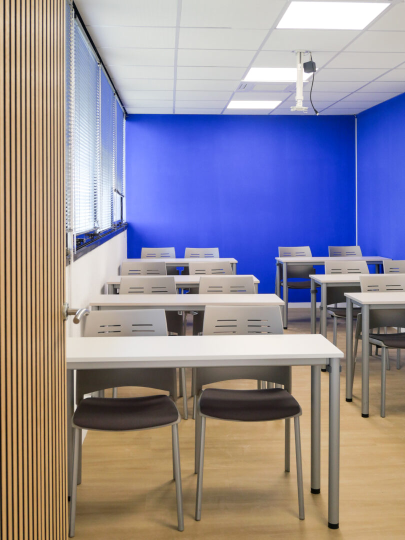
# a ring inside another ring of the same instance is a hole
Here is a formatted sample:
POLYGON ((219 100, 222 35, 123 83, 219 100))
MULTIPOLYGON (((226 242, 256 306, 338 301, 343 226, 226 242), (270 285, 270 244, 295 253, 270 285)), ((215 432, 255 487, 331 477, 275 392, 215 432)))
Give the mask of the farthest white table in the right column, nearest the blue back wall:
MULTIPOLYGON (((276 274, 275 274, 275 294, 280 296, 280 266, 282 265, 282 279, 287 283, 287 269, 289 265, 315 265, 325 266, 325 262, 329 260, 336 260, 337 257, 276 257, 276 274)), ((380 264, 384 260, 390 260, 388 257, 380 257, 375 255, 372 257, 339 257, 340 261, 366 261, 367 264, 375 265, 376 273, 380 272, 380 264)), ((287 328, 288 325, 288 287, 282 288, 282 299, 284 300, 283 311, 283 326, 287 328)))

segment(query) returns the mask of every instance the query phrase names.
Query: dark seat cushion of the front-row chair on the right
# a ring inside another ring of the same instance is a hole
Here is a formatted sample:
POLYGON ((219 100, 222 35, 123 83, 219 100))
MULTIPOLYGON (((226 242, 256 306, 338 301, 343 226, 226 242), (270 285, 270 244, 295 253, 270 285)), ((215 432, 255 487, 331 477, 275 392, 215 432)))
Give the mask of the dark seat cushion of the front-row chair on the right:
POLYGON ((207 388, 201 393, 200 411, 222 420, 260 422, 299 414, 300 406, 283 388, 226 390, 207 388))

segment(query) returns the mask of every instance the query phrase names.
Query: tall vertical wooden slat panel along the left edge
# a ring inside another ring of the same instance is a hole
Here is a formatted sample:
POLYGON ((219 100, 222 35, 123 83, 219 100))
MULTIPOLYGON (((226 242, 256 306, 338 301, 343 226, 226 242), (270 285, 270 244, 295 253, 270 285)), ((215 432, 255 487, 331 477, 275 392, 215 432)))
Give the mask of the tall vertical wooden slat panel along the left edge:
POLYGON ((0 6, 0 536, 65 539, 65 4, 0 6))

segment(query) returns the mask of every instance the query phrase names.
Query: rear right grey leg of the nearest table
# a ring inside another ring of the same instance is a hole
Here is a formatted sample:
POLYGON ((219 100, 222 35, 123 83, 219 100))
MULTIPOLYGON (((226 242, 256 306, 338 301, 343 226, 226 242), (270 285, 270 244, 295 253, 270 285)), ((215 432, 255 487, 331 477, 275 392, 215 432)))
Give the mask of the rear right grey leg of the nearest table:
POLYGON ((321 368, 311 366, 311 493, 321 492, 321 368))

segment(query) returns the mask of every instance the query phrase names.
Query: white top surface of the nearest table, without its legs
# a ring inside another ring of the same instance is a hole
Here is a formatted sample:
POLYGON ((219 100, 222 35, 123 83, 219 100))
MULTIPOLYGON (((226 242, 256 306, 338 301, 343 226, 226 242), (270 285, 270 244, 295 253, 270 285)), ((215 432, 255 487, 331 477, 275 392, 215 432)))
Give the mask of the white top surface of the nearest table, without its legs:
POLYGON ((320 334, 68 338, 68 369, 323 365, 343 353, 320 334))

